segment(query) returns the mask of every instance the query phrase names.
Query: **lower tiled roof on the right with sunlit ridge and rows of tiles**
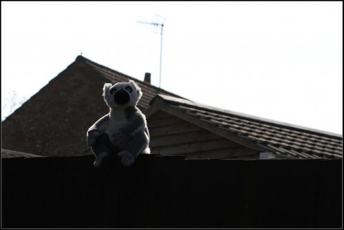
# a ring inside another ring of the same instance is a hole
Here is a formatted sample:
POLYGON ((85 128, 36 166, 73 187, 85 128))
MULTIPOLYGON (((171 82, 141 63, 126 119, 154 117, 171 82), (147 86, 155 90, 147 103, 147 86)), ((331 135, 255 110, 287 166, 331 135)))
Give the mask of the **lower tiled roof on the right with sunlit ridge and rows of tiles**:
POLYGON ((233 141, 281 156, 299 159, 334 159, 343 156, 342 135, 226 111, 166 95, 158 95, 151 105, 149 113, 160 108, 233 141))

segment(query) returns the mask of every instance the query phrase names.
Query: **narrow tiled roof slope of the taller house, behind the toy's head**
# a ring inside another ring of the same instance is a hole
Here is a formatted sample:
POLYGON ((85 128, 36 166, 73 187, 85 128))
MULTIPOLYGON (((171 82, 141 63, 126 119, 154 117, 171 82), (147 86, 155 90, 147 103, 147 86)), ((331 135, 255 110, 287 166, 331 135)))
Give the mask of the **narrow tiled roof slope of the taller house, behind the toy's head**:
MULTIPOLYGON (((169 91, 165 91, 164 89, 155 87, 152 84, 149 84, 148 82, 144 82, 136 78, 132 78, 114 69, 109 69, 108 67, 99 65, 98 63, 93 62, 92 60, 84 58, 83 56, 78 56, 76 59, 80 61, 84 61, 87 65, 89 65, 89 67, 92 67, 94 68, 94 70, 101 73, 111 83, 127 82, 128 80, 134 80, 142 89, 142 97, 140 99, 139 106, 143 109, 147 109, 149 107, 149 102, 151 102, 153 97, 155 97, 155 95, 157 95, 158 93, 164 94, 164 95, 171 95, 173 97, 180 97, 179 95, 175 95, 174 93, 170 93, 169 91)), ((180 98, 183 98, 183 97, 180 97, 180 98)))

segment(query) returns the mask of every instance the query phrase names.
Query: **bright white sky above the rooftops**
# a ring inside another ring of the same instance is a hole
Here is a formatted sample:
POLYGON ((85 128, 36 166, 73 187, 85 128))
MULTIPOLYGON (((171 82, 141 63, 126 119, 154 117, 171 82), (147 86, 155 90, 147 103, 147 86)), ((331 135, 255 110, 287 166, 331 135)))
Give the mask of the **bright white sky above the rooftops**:
POLYGON ((160 31, 137 23, 156 14, 163 89, 343 134, 341 1, 1 2, 1 117, 13 93, 28 100, 81 52, 158 86, 160 31))

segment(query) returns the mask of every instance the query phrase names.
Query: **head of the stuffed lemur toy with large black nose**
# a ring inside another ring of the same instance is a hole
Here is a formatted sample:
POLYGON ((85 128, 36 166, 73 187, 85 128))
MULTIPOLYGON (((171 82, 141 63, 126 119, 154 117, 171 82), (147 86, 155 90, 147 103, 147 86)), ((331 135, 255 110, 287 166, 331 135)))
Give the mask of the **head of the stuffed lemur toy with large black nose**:
POLYGON ((142 91, 133 80, 118 82, 114 85, 105 83, 103 96, 107 106, 110 108, 127 108, 138 104, 142 91))

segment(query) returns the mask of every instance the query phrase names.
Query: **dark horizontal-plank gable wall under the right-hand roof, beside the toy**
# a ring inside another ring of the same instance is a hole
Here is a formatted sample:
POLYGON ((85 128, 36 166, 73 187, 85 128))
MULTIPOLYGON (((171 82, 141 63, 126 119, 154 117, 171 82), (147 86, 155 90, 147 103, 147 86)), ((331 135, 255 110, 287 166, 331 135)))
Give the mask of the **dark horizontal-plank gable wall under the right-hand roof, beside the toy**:
POLYGON ((186 159, 259 159, 259 151, 158 111, 147 118, 151 152, 186 154, 186 159))

